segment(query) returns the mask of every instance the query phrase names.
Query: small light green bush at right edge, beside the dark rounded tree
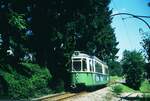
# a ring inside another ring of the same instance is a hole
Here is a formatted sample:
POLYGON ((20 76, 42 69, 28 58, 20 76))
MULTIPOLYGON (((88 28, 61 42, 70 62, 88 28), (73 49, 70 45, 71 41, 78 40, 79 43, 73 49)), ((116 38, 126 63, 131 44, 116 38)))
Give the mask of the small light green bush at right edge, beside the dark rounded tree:
POLYGON ((142 82, 141 87, 140 87, 140 91, 144 92, 144 93, 150 92, 150 83, 147 80, 142 82))

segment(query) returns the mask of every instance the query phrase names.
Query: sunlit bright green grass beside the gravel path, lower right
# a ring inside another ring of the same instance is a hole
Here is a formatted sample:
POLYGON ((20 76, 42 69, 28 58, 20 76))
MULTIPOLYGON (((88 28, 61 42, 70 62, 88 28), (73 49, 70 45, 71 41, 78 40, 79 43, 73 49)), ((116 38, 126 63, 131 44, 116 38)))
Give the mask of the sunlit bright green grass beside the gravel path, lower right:
MULTIPOLYGON (((118 77, 118 76, 111 76, 110 77, 110 83, 108 84, 108 86, 110 86, 114 96, 118 96, 121 93, 142 93, 142 98, 134 98, 135 101, 150 101, 150 83, 148 82, 148 80, 144 80, 141 83, 141 87, 139 88, 139 90, 134 90, 124 84, 120 84, 117 81, 121 80, 122 77, 118 77)), ((108 97, 109 98, 109 97, 108 97)), ((127 97, 128 98, 128 97, 127 97)), ((129 99, 133 99, 132 97, 129 99)))

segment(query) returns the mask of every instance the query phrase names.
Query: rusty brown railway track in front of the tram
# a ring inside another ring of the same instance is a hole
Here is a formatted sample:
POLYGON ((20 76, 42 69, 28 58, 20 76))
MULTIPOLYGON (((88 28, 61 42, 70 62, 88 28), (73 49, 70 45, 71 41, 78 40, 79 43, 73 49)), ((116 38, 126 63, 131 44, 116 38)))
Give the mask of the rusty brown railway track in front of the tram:
POLYGON ((79 96, 79 95, 83 95, 83 94, 87 94, 87 92, 80 92, 80 93, 65 92, 65 93, 56 94, 53 96, 41 97, 38 99, 34 99, 33 101, 65 101, 66 99, 79 96))

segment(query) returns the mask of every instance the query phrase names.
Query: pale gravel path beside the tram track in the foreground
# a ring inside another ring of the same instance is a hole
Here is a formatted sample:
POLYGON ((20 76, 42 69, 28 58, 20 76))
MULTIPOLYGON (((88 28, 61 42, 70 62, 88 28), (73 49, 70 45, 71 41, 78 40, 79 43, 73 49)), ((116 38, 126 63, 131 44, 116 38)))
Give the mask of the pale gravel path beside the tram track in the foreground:
POLYGON ((131 101, 131 99, 132 101, 136 101, 137 97, 142 98, 142 93, 130 92, 115 95, 111 91, 111 87, 105 87, 97 91, 77 94, 76 96, 65 98, 64 100, 52 100, 48 98, 45 101, 131 101))

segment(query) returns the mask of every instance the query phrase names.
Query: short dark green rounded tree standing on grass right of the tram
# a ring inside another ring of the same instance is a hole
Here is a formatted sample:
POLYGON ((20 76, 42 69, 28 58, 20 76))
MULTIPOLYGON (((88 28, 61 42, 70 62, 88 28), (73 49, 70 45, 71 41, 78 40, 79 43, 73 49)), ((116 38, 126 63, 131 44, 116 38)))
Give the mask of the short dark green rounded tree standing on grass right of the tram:
POLYGON ((142 54, 137 51, 125 50, 121 63, 127 85, 133 89, 139 89, 145 64, 142 54))

